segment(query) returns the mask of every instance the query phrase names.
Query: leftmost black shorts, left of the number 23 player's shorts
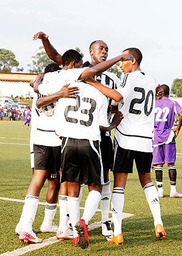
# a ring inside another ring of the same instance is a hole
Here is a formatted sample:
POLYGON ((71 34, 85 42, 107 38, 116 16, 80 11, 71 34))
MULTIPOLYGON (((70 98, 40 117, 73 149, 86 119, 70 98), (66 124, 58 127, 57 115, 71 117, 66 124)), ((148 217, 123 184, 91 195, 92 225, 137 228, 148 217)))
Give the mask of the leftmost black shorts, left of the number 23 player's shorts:
POLYGON ((50 147, 33 144, 34 169, 48 170, 49 177, 54 179, 60 171, 61 146, 50 147))

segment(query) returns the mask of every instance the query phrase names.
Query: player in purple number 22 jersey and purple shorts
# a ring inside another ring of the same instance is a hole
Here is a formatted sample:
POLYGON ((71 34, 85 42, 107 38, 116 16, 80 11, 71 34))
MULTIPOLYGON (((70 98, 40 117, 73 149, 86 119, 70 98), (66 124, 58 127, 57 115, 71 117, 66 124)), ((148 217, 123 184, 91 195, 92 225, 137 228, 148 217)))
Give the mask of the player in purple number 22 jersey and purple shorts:
POLYGON ((182 109, 178 102, 169 99, 169 87, 161 85, 164 90, 162 99, 155 102, 155 124, 153 132, 153 160, 157 180, 158 196, 164 197, 163 165, 167 163, 170 180, 170 197, 182 197, 177 191, 176 143, 182 124, 182 109), (173 129, 175 114, 180 116, 177 128, 173 129))

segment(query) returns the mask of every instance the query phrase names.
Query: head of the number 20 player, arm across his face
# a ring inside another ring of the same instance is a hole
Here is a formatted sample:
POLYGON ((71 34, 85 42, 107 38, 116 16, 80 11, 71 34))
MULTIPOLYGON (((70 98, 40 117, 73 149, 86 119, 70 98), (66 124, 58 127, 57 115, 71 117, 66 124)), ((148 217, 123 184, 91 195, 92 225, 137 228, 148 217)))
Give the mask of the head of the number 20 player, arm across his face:
POLYGON ((133 55, 133 60, 124 60, 120 63, 120 68, 122 69, 123 73, 125 74, 135 71, 135 68, 140 66, 143 57, 141 51, 137 48, 127 48, 122 53, 133 55))

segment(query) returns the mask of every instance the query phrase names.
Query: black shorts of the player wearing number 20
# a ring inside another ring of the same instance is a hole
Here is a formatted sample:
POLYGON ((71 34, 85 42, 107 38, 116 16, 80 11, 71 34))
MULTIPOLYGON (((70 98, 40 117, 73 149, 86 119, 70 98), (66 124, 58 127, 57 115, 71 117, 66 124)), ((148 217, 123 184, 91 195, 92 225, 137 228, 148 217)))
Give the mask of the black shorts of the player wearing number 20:
POLYGON ((112 171, 132 173, 133 160, 135 160, 136 169, 138 172, 147 173, 151 171, 152 152, 140 152, 130 149, 123 149, 116 144, 112 171))

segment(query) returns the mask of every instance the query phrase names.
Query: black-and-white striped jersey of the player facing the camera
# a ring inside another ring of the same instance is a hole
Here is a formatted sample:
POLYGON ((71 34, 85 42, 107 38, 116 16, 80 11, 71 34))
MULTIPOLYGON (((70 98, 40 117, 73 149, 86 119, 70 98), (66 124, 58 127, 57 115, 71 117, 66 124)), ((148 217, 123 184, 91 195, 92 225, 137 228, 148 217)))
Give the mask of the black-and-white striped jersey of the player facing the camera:
MULTIPOLYGON (((113 74, 112 72, 109 72, 109 71, 104 71, 103 73, 96 75, 94 77, 94 79, 97 82, 99 82, 113 90, 116 90, 116 85, 120 82, 120 79, 118 79, 118 77, 115 74, 113 74)), ((110 123, 110 119, 112 117, 112 115, 110 113, 109 105, 111 105, 113 103, 114 103, 114 101, 112 99, 107 98, 107 104, 108 104, 107 118, 108 118, 109 123, 110 123)), ((102 132, 102 135, 110 136, 110 132, 102 132)))

